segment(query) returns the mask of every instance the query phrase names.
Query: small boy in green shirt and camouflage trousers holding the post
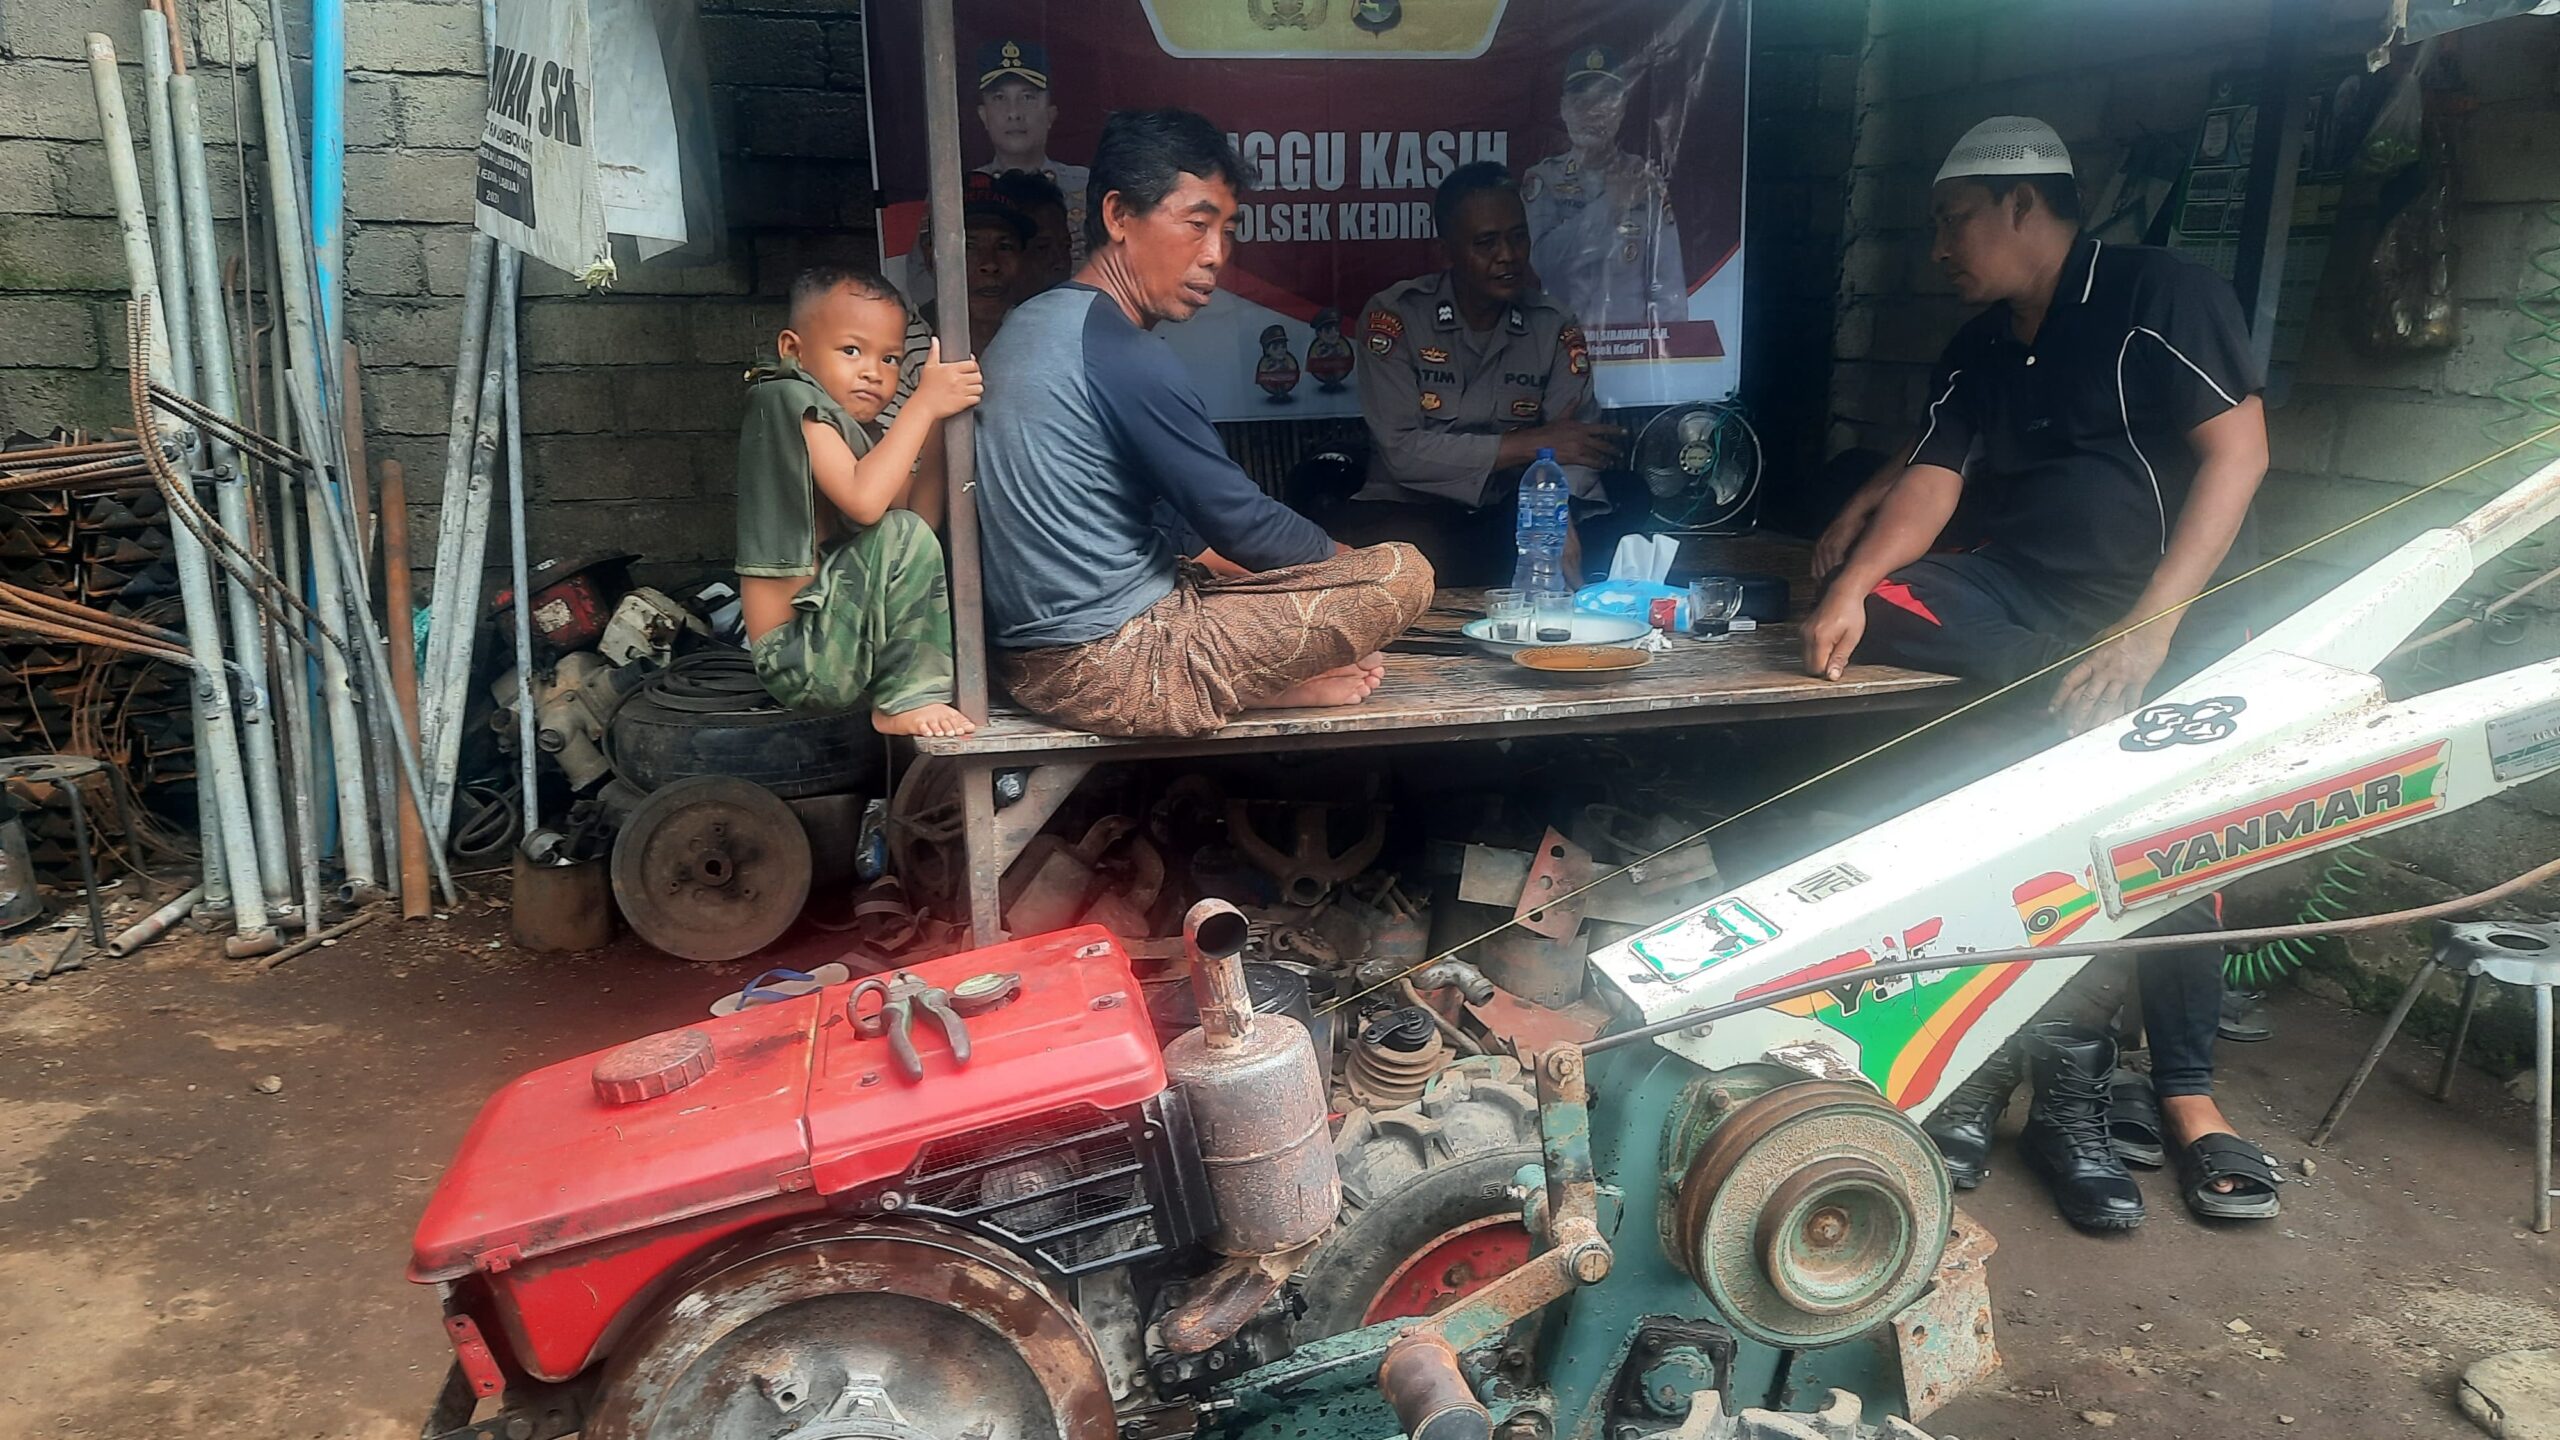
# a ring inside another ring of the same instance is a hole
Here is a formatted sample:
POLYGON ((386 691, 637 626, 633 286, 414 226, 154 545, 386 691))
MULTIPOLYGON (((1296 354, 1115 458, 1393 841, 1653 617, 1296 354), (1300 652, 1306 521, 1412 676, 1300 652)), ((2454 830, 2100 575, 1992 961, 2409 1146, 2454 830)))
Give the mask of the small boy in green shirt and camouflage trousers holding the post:
POLYGON ((965 735, 952 710, 940 420, 978 405, 978 361, 932 348, 901 425, 906 300, 878 274, 791 282, 778 359, 748 372, 737 436, 737 592, 755 676, 791 707, 870 705, 883 735, 965 735), (922 423, 919 423, 922 420, 922 423))

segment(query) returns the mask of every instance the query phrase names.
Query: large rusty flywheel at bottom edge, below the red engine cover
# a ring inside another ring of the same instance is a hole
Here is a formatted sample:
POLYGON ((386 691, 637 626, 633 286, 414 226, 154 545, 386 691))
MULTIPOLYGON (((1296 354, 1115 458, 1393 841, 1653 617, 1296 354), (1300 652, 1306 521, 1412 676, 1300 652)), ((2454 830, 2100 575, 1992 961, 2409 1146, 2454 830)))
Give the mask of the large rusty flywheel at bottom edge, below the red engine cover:
POLYGON ((1093 1332, 1019 1256, 812 1220, 691 1271, 604 1363, 586 1440, 1114 1440, 1093 1332))

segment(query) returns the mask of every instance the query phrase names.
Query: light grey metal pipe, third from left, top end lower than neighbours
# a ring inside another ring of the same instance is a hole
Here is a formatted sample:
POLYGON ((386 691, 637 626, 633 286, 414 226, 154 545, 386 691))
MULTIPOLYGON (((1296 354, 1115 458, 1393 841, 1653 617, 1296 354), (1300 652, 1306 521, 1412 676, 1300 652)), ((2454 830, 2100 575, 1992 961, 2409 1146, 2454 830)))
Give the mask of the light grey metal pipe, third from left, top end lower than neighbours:
MULTIPOLYGON (((195 302, 197 374, 202 402, 220 418, 238 423, 241 397, 230 379, 230 318, 223 313, 223 277, 212 220, 212 184, 205 174, 205 115, 197 102, 192 74, 169 79, 169 108, 177 133, 177 187, 182 202, 182 238, 187 243, 187 297, 195 302)), ((256 553, 256 525, 248 510, 248 474, 238 454, 205 428, 212 459, 212 502, 223 528, 256 553)), ((276 761, 276 707, 266 682, 266 625, 259 620, 259 602, 246 584, 225 587, 230 600, 230 648, 251 684, 241 687, 241 740, 248 761, 248 812, 256 822, 259 879, 266 887, 266 904, 289 910, 294 902, 292 861, 287 858, 284 787, 276 761)), ((305 897, 305 904, 310 897, 305 897)))

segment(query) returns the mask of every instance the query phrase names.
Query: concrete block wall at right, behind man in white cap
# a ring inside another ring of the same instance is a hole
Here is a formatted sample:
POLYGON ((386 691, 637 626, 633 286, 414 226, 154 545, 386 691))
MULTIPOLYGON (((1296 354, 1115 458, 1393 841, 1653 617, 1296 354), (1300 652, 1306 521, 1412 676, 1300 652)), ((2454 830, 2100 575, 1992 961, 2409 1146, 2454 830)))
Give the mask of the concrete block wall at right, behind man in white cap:
MULTIPOLYGON (((2373 44, 2378 13, 2363 0, 2332 0, 2322 51, 2360 54, 2373 44)), ((1966 318, 1928 259, 1928 184, 1956 136, 1984 115, 2040 115, 2071 143, 2081 190, 2094 195, 2130 141, 2191 133, 2212 77, 2258 64, 2266 23, 2268 0, 1874 0, 1859 74, 1828 443, 1910 443, 1930 364, 1966 318)), ((2455 120, 2463 341, 2450 354, 2409 359, 2373 359, 2348 341, 2348 284, 2360 249, 2350 213, 2312 307, 2304 359, 2271 397, 2273 469, 2258 497, 2268 556, 2406 500, 2532 430, 2501 425, 2511 410, 2496 387, 2519 374, 2506 356, 2527 336, 2511 307, 2516 292, 2550 287, 2529 256, 2560 246, 2552 223, 2560 18, 2473 28, 2447 61, 2463 95, 2455 120)), ((2468 512, 2524 469, 2524 459, 2483 469, 2289 561, 2268 577, 2263 607, 2286 612, 2417 530, 2468 512)), ((2540 556, 2527 577, 2560 564, 2560 538, 2545 536, 2540 556)), ((2394 671, 2394 684, 2409 692, 2560 653, 2560 623, 2547 610, 2527 607, 2509 638, 2516 643, 2440 653, 2427 671, 2394 671)), ((2383 863, 2368 881, 2368 910, 2483 889, 2560 853, 2560 781, 2529 784, 2373 848, 2383 863)), ((2235 920, 2291 920, 2322 863, 2243 884, 2235 920)), ((2322 984, 2358 1004, 2388 1004, 2422 943, 2394 935, 2340 945, 2322 958, 2322 984)), ((2432 1022, 2450 1027, 2440 997, 2419 1010, 2417 1033, 2427 1035, 2432 1022)), ((2522 1030, 2493 1020, 2488 1035, 2491 1048, 2511 1051, 2522 1030)))

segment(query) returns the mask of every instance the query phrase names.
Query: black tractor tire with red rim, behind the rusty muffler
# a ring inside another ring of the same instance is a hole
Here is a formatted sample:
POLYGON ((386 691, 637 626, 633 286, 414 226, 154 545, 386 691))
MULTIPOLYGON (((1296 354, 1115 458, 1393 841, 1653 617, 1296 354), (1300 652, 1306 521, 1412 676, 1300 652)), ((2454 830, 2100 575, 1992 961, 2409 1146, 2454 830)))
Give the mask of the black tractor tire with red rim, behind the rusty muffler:
POLYGON ((1523 1266, 1510 1179, 1539 1153, 1539 1097, 1508 1056, 1464 1058, 1413 1104, 1344 1117, 1341 1222, 1298 1271, 1298 1343, 1431 1314, 1523 1266))

